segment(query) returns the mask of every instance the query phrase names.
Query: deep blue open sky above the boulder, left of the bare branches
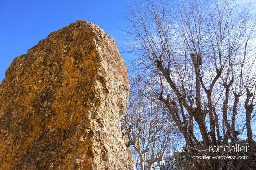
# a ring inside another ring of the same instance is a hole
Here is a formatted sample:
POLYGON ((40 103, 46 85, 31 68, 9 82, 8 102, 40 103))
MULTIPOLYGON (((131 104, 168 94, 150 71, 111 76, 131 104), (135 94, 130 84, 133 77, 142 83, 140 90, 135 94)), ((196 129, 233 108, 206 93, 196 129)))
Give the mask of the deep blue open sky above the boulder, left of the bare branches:
MULTIPOLYGON (((113 25, 125 27, 119 16, 125 15, 125 0, 0 0, 0 82, 12 60, 27 53, 51 32, 77 21, 97 24, 108 33, 121 50, 123 32, 113 25), (118 16, 119 15, 119 16, 118 16)), ((125 61, 128 57, 123 56, 125 61)))

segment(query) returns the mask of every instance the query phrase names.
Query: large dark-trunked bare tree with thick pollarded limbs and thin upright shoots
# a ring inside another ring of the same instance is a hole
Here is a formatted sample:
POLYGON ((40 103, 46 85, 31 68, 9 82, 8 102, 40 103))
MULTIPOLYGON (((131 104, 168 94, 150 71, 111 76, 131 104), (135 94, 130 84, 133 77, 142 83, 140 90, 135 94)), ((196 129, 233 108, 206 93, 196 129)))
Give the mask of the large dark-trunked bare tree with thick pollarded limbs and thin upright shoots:
POLYGON ((135 71, 148 80, 144 91, 171 115, 190 155, 209 156, 193 160, 197 169, 253 166, 255 14, 244 6, 227 0, 128 4, 131 25, 123 31, 137 57, 135 71), (213 148, 242 138, 248 159, 239 160, 237 152, 236 159, 213 159, 229 154, 213 148))

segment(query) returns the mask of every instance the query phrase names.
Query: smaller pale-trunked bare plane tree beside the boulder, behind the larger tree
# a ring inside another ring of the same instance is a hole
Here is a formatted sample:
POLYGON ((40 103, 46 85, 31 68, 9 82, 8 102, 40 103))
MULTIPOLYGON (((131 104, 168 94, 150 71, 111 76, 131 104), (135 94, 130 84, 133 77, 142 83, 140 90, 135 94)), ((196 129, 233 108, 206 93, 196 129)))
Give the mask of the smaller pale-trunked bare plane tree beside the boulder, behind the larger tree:
POLYGON ((129 106, 121 121, 123 136, 127 136, 126 146, 134 147, 139 155, 141 170, 147 164, 148 170, 163 160, 165 149, 174 130, 170 124, 168 112, 162 112, 150 95, 142 92, 143 80, 137 75, 137 81, 130 79, 129 106))

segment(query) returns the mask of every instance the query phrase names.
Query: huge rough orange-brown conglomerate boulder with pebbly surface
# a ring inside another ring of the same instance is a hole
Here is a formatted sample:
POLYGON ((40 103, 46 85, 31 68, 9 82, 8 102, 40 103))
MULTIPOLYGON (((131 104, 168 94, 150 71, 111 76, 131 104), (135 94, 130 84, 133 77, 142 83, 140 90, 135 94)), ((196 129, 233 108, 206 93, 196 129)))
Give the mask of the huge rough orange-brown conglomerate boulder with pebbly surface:
POLYGON ((120 119, 129 81, 114 40, 76 21, 16 57, 0 84, 0 169, 133 169, 120 119))

